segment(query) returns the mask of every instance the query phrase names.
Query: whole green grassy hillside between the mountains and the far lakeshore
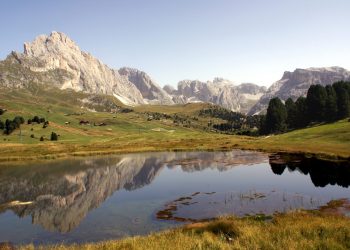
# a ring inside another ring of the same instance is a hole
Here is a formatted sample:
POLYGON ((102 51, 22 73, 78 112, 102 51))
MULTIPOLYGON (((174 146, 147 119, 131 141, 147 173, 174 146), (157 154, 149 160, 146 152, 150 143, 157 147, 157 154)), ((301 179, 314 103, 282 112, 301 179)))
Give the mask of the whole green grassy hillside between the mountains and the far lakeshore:
POLYGON ((42 124, 24 124, 9 136, 1 133, 0 159, 233 148, 350 157, 350 122, 346 120, 270 137, 233 136, 209 131, 209 120, 222 122, 198 116, 200 110, 209 106, 200 103, 144 105, 124 113, 123 104, 108 96, 45 89, 34 84, 29 90, 1 89, 0 108, 8 110, 0 116, 2 121, 16 115, 25 120, 38 115, 50 124, 47 128, 42 124), (89 121, 90 125, 79 125, 80 121, 89 121), (106 126, 94 126, 101 123, 106 126), (49 141, 51 132, 60 135, 57 142, 49 141), (39 141, 41 136, 46 140, 39 141))

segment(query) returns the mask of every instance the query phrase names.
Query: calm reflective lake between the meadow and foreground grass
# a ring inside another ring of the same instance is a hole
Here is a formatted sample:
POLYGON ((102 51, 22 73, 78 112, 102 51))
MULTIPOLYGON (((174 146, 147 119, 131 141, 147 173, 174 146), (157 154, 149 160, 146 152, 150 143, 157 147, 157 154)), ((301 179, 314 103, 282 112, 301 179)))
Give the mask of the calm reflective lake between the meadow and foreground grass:
POLYGON ((11 164, 0 166, 0 242, 91 242, 179 220, 314 209, 350 198, 349 185, 347 162, 241 150, 11 164))

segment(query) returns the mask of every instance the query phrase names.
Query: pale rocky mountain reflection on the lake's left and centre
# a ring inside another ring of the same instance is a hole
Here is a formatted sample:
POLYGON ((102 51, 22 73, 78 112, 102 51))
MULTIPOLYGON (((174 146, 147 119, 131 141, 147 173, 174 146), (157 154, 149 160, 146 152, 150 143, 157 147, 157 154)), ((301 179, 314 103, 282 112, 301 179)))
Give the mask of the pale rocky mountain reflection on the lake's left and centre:
POLYGON ((0 212, 6 209, 1 204, 32 201, 11 210, 20 217, 30 215, 34 224, 46 230, 69 232, 115 191, 150 184, 164 166, 181 165, 189 172, 206 168, 223 171, 265 159, 263 154, 245 151, 168 152, 0 168, 0 212))

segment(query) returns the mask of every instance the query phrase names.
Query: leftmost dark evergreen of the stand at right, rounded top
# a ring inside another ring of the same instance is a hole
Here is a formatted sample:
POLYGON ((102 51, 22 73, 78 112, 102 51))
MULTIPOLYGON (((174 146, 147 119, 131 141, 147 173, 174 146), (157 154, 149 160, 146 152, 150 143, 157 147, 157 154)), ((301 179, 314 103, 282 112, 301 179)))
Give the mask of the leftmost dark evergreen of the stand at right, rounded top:
POLYGON ((272 98, 266 113, 265 129, 268 133, 284 132, 287 128, 287 110, 282 101, 272 98))

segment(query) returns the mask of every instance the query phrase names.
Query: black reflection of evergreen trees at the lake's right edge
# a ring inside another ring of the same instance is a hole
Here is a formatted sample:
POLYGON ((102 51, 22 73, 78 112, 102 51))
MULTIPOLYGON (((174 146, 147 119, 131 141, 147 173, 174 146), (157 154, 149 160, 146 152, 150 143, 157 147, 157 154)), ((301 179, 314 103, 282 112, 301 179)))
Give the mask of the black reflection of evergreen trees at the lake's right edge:
POLYGON ((346 188, 350 186, 350 162, 305 157, 284 161, 283 158, 282 155, 270 158, 270 166, 274 174, 281 175, 288 168, 291 172, 299 171, 304 175, 309 174, 316 187, 325 187, 328 184, 346 188))

